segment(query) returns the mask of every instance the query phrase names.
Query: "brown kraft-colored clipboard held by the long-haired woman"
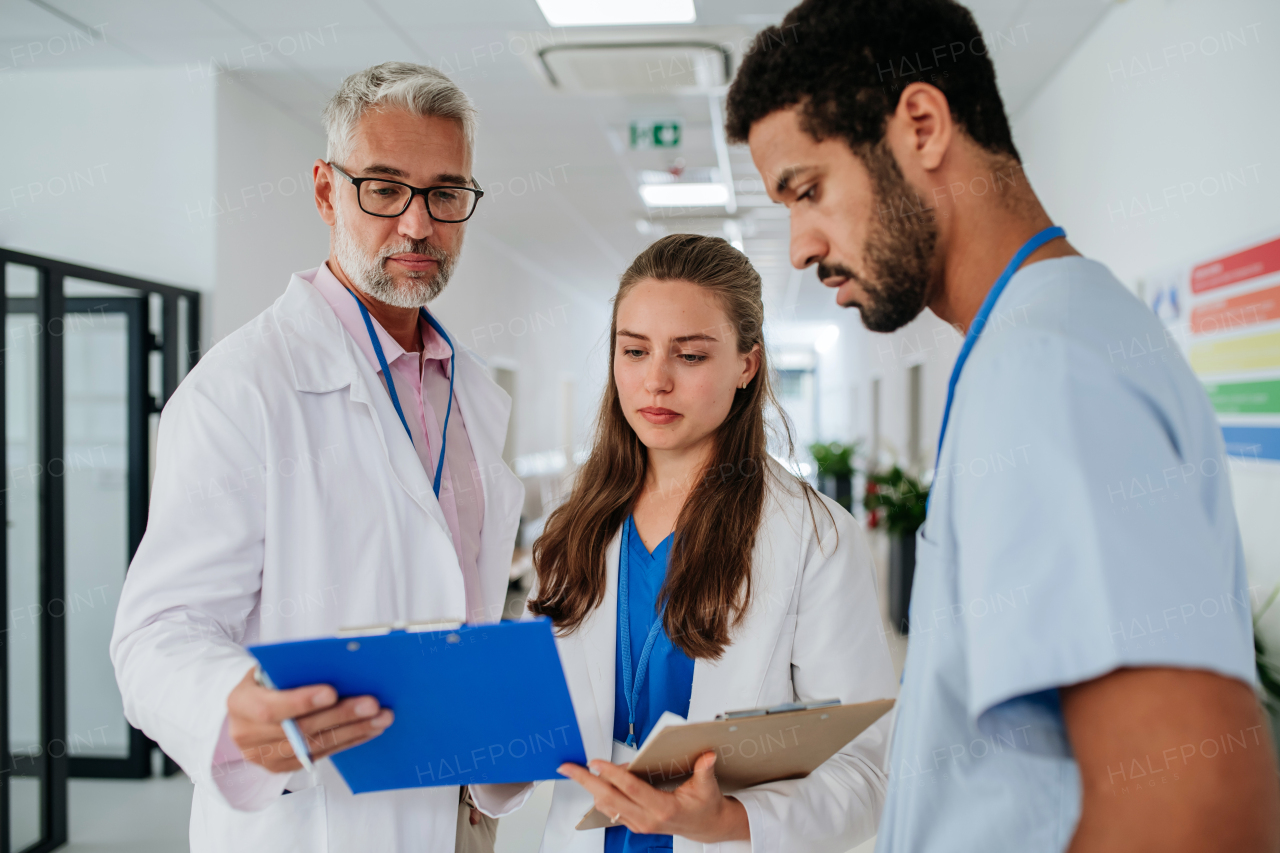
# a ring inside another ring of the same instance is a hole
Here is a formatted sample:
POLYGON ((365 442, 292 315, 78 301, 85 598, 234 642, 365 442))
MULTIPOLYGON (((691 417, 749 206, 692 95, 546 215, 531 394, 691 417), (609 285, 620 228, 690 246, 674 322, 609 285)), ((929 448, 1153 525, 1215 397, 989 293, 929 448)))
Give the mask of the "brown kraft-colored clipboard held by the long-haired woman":
MULTIPOLYGON (((893 699, 876 699, 673 725, 650 736, 627 768, 654 788, 672 790, 692 775, 699 756, 714 751, 716 779, 726 794, 804 779, 892 707, 893 699)), ((612 825, 593 808, 577 829, 612 825)))

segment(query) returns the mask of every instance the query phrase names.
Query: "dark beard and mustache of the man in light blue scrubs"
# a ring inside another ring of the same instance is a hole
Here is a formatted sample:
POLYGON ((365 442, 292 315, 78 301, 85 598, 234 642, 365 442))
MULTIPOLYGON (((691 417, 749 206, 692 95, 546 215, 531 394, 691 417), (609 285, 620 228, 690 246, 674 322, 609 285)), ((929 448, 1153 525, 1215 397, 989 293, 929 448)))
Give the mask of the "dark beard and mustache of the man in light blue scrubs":
POLYGON ((863 250, 867 275, 841 264, 819 264, 818 278, 844 275, 858 282, 867 292, 864 302, 854 304, 861 311, 863 325, 872 332, 895 332, 919 316, 928 301, 938 229, 883 140, 859 156, 876 193, 876 213, 863 250))

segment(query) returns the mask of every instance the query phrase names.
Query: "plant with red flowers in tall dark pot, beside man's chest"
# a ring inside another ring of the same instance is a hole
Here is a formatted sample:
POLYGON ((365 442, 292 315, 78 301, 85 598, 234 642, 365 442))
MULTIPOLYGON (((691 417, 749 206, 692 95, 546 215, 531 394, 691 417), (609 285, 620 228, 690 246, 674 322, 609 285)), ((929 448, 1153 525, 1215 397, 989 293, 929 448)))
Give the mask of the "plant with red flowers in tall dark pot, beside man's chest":
POLYGON ((867 526, 884 528, 888 549, 888 615, 905 635, 911 579, 915 576, 915 532, 924 524, 929 488, 895 465, 883 473, 867 475, 867 526))

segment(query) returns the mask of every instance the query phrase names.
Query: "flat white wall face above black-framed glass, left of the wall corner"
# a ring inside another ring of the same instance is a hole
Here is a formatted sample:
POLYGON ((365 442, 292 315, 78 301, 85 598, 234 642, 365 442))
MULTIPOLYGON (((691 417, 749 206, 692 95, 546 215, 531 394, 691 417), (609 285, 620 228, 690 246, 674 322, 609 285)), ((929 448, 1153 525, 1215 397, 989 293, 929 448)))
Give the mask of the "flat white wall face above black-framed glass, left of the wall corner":
POLYGON ((0 246, 210 289, 182 205, 214 186, 212 104, 179 68, 6 76, 0 246))

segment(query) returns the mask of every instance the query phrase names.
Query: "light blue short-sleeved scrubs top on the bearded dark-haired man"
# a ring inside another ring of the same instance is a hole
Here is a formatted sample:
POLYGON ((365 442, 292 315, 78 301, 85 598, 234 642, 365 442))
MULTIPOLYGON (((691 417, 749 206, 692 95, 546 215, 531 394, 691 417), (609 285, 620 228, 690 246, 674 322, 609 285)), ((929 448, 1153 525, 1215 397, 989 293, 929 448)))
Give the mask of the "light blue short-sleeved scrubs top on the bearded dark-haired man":
MULTIPOLYGON (((1064 685, 1126 666, 1254 683, 1228 474, 1199 379, 1105 266, 1060 257, 1009 280, 916 537, 877 853, 1065 850, 1080 777, 1064 685)), ((1230 748, 1217 736, 1202 754, 1230 748)), ((1174 749, 1144 761, 1112 758, 1106 793, 1185 772, 1174 749)))

